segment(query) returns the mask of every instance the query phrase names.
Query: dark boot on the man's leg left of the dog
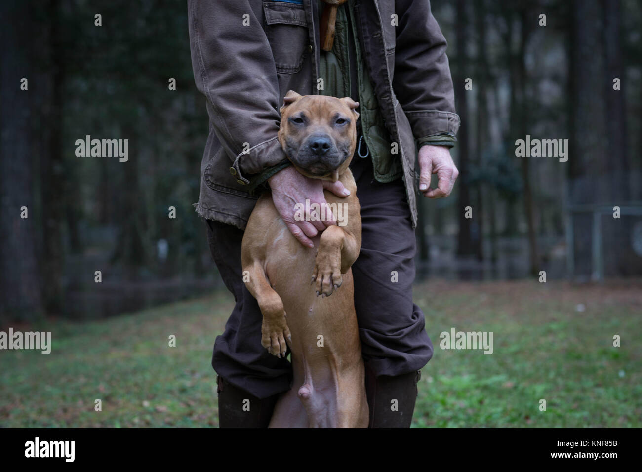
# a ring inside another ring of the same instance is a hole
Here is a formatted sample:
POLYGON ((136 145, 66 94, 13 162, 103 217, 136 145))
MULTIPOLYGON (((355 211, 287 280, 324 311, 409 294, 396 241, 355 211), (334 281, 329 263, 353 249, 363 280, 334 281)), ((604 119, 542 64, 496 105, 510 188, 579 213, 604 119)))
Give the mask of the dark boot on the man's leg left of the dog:
POLYGON ((216 376, 218 392, 218 426, 220 428, 267 428, 279 394, 265 399, 232 385, 216 376), (249 400, 249 403, 245 400, 249 400), (245 410, 243 406, 245 406, 245 410), (249 406, 250 410, 247 411, 249 406))

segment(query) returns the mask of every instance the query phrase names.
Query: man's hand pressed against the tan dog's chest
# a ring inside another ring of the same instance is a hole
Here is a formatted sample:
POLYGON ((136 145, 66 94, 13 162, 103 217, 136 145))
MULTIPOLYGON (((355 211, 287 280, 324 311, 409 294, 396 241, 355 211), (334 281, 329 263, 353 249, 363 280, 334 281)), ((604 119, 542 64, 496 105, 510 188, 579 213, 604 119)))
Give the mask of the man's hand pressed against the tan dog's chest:
MULTIPOLYGON (((304 246, 314 247, 310 238, 317 236, 318 232, 330 225, 336 225, 336 218, 326 221, 297 221, 294 219, 295 205, 297 203, 305 206, 306 199, 310 205, 317 203, 325 204, 324 189, 331 191, 337 197, 347 197, 350 191, 343 186, 340 180, 330 182, 329 180, 310 179, 302 175, 292 166, 286 167, 275 173, 268 179, 272 189, 272 201, 281 218, 288 225, 295 238, 304 246)), ((306 219, 308 218, 306 214, 306 219)))

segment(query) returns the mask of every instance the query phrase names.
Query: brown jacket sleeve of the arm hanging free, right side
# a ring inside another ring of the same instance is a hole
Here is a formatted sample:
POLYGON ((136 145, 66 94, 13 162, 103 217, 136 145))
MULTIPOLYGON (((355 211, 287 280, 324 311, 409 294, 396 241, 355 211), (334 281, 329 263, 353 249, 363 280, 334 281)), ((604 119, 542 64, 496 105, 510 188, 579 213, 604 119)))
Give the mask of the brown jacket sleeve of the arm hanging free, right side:
POLYGON ((430 11, 429 0, 396 0, 393 88, 415 139, 455 137, 460 118, 446 56, 446 38, 430 11))

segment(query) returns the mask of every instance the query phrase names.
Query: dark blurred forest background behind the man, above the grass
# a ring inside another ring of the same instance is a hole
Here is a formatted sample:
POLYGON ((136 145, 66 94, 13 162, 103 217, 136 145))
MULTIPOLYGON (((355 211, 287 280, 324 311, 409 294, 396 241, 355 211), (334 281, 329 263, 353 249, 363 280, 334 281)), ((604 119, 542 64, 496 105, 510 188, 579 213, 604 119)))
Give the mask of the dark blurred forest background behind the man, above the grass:
MULTIPOLYGON (((462 116, 460 177, 451 197, 420 200, 419 276, 640 275, 642 2, 431 4, 462 116), (569 139, 568 162, 516 157, 526 135, 569 139)), ((192 207, 208 118, 186 3, 3 1, 0 21, 0 324, 222 287, 192 207), (129 139, 129 161, 76 157, 86 135, 129 139)))

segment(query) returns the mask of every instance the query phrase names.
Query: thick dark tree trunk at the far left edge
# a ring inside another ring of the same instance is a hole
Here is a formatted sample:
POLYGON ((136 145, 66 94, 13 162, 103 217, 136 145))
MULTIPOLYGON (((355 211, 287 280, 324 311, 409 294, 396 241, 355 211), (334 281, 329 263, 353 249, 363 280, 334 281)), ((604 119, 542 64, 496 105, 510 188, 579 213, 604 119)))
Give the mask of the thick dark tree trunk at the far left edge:
POLYGON ((31 91, 37 84, 30 74, 31 9, 23 0, 0 2, 0 315, 33 320, 42 313, 31 195, 31 91), (21 78, 28 90, 21 90, 21 78), (21 218, 26 207, 29 218, 21 218))

